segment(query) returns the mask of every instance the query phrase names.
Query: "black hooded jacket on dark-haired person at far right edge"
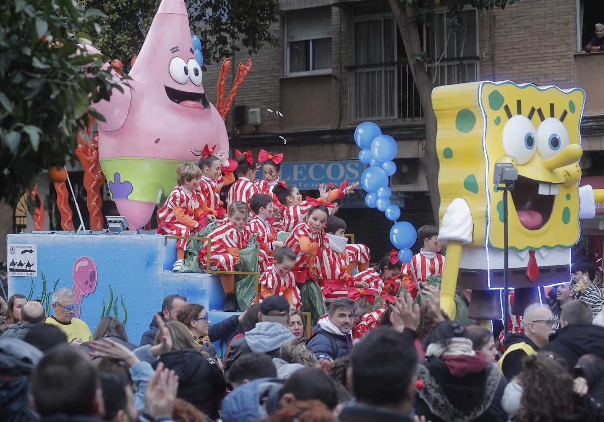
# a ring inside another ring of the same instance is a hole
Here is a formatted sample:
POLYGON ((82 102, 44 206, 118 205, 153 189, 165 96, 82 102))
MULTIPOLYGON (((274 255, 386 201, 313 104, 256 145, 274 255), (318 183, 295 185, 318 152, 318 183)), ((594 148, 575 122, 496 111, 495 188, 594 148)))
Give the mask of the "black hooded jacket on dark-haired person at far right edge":
POLYGON ((604 359, 604 327, 594 324, 570 324, 559 329, 541 350, 553 351, 567 361, 568 369, 574 367, 583 354, 595 354, 604 359))

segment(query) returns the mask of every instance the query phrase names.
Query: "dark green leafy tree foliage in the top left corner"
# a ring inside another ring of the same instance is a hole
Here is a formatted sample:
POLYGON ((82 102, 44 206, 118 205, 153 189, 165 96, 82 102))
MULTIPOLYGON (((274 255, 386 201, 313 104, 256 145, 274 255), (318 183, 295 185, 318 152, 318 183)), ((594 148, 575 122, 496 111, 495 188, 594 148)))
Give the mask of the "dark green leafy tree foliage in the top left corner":
POLYGON ((75 158, 86 110, 114 87, 100 69, 105 57, 77 55, 78 40, 89 42, 99 16, 73 0, 2 0, 0 198, 10 204, 40 171, 75 158))

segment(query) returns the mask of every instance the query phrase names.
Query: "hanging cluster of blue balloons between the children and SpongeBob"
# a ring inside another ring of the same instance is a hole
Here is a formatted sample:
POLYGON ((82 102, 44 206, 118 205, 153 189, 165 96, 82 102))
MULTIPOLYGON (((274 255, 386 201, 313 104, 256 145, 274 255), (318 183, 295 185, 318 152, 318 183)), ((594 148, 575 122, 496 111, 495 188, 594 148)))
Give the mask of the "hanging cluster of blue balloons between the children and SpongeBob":
POLYGON ((388 186, 390 176, 396 172, 393 162, 397 151, 396 140, 382 134, 378 125, 364 122, 356 127, 355 142, 361 148, 359 161, 369 165, 361 176, 361 185, 367 192, 365 204, 384 212, 387 219, 394 221, 390 242, 399 249, 401 262, 409 262, 413 257, 410 248, 416 241, 417 233, 413 224, 397 221, 400 208, 390 203, 392 190, 388 186))

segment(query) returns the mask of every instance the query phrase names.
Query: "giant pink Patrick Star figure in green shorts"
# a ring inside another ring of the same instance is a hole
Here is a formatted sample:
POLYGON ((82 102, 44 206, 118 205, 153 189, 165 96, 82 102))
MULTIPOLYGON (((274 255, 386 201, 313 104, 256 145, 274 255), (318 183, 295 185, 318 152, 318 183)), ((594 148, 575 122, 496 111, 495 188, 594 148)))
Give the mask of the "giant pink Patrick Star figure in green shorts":
POLYGON ((111 198, 138 230, 176 186, 176 166, 196 163, 204 145, 229 145, 202 86, 183 0, 161 1, 129 77, 123 93, 93 107, 106 119, 98 122, 98 156, 111 198))

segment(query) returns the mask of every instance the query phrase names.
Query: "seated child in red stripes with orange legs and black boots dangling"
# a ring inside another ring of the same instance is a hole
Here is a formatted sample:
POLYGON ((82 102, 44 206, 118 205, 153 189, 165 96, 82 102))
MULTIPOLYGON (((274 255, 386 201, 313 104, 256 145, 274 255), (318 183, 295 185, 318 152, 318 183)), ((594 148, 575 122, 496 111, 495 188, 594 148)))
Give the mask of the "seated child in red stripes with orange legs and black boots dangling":
MULTIPOLYGON (((208 235, 210 242, 210 268, 218 271, 235 271, 235 264, 239 260, 239 250, 247 246, 249 233, 245 230, 248 221, 249 208, 242 202, 234 202, 228 210, 228 221, 219 225, 208 235)), ((207 268, 207 245, 204 242, 199 251, 199 265, 207 268)), ((225 291, 225 306, 223 312, 236 312, 237 300, 235 297, 234 274, 220 274, 220 283, 225 291)))

